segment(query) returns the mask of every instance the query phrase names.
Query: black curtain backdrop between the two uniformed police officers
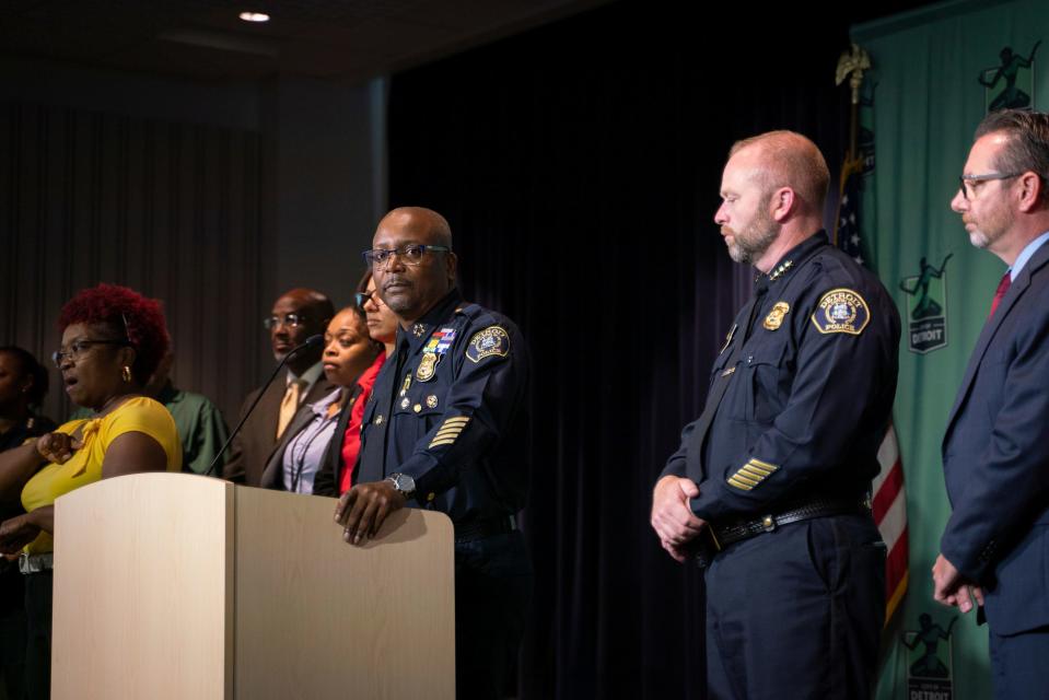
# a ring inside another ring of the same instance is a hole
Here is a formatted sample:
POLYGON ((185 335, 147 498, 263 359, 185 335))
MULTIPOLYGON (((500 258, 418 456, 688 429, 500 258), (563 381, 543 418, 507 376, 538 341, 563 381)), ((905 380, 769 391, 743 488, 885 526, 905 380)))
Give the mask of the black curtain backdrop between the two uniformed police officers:
POLYGON ((721 170, 769 129, 832 171, 846 149, 846 19, 695 8, 606 5, 391 86, 391 206, 448 218, 467 299, 533 351, 523 698, 706 697, 702 578, 648 521, 749 294, 712 221, 721 170))

